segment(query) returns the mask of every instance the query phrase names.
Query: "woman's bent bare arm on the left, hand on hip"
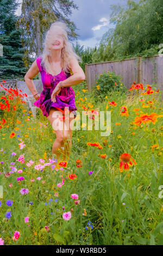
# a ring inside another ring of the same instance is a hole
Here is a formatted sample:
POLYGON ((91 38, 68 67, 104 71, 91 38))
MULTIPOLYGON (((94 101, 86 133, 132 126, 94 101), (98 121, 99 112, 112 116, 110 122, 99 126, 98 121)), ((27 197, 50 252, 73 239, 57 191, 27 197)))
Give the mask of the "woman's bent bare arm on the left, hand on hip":
MULTIPOLYGON (((39 68, 37 66, 36 60, 32 63, 32 65, 30 66, 30 69, 28 70, 28 72, 26 73, 26 75, 24 76, 24 80, 28 86, 28 89, 30 90, 30 92, 35 95, 37 93, 36 88, 34 86, 34 82, 33 82, 33 78, 39 73, 39 68)), ((36 95, 38 96, 38 94, 36 95)))

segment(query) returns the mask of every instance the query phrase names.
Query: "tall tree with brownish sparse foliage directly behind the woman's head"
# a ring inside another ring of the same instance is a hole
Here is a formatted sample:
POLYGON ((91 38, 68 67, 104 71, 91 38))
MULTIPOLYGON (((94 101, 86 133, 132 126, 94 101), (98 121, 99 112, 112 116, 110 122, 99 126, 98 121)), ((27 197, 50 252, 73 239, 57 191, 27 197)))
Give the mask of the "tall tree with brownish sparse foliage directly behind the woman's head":
POLYGON ((17 26, 22 29, 22 44, 26 52, 24 63, 29 68, 30 56, 40 56, 43 51, 43 39, 51 24, 62 21, 70 28, 68 32, 70 39, 78 34, 74 32, 76 26, 68 15, 72 14, 71 8, 78 9, 77 5, 70 0, 23 0, 22 13, 18 19, 17 26))

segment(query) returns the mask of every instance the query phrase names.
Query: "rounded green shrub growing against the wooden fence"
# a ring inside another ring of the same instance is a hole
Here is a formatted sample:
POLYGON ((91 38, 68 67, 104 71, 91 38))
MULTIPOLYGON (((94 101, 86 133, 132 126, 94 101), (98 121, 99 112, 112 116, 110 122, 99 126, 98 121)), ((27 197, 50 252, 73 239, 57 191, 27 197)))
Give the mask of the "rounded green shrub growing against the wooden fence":
POLYGON ((115 72, 104 71, 103 74, 99 75, 96 80, 96 85, 93 86, 92 90, 96 100, 101 100, 108 95, 109 92, 126 93, 127 87, 124 86, 121 76, 116 75, 115 72))

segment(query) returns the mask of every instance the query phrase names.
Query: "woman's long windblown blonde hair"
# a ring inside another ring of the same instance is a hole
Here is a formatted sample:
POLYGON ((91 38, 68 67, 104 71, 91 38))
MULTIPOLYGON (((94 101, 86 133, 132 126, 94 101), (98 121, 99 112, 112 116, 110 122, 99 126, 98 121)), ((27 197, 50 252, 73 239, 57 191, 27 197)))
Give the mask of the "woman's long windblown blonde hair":
POLYGON ((68 27, 64 22, 56 21, 52 23, 49 31, 46 33, 45 42, 43 42, 43 53, 41 55, 42 61, 41 65, 45 68, 48 74, 54 75, 53 70, 51 68, 51 64, 49 63, 49 56, 51 56, 51 50, 49 49, 49 44, 54 41, 55 34, 59 34, 64 39, 63 48, 61 50, 61 66, 64 69, 64 72, 71 72, 71 68, 68 66, 70 60, 76 58, 81 62, 81 58, 74 51, 73 45, 70 41, 68 41, 67 36, 68 27))

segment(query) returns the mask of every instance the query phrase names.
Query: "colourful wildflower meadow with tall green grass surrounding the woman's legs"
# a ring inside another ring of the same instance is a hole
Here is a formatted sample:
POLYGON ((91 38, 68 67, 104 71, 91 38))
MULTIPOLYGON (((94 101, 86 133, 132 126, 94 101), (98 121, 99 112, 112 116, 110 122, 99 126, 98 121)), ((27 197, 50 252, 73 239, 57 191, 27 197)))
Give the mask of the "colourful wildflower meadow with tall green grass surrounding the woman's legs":
POLYGON ((163 245, 161 92, 73 88, 87 119, 110 111, 111 131, 81 123, 58 162, 47 118, 1 84, 0 245, 163 245))

